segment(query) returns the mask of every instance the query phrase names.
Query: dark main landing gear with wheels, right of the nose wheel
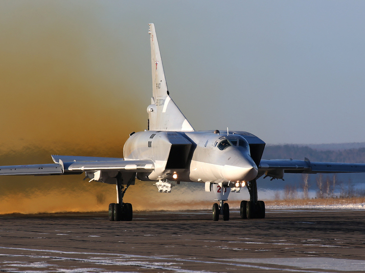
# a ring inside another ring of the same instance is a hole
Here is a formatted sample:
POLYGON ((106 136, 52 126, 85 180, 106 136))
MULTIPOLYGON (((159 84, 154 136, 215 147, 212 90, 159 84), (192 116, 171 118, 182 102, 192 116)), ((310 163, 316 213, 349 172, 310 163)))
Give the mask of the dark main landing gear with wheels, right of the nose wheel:
POLYGON ((250 201, 242 201, 240 206, 240 215, 242 219, 265 218, 265 203, 257 200, 256 179, 247 184, 250 192, 250 201))

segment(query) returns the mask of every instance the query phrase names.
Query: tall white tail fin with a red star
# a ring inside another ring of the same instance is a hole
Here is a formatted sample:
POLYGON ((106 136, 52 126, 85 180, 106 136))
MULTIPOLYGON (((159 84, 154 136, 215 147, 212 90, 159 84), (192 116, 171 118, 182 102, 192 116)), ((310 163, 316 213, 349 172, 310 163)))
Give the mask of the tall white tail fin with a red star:
POLYGON ((152 95, 151 105, 147 107, 149 116, 149 130, 160 131, 194 131, 179 107, 172 101, 167 89, 165 73, 163 71, 159 43, 155 25, 149 24, 151 41, 152 64, 152 95))

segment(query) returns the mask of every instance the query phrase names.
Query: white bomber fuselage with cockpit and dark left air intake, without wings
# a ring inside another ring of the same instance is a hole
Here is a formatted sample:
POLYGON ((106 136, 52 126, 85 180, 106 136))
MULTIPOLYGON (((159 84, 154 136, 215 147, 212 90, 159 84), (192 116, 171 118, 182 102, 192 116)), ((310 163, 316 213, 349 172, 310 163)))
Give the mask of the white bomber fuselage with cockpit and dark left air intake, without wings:
POLYGON ((125 160, 152 160, 155 170, 138 173, 143 181, 224 183, 250 181, 257 166, 247 141, 236 134, 144 131, 124 145, 125 160))

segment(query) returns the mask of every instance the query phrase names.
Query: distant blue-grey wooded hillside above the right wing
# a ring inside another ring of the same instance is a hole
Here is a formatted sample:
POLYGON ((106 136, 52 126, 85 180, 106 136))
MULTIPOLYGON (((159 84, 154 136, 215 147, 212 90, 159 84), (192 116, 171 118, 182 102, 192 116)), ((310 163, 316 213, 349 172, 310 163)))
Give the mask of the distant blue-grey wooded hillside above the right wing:
POLYGON ((262 159, 299 159, 310 161, 365 163, 365 148, 322 150, 299 145, 267 145, 262 159))

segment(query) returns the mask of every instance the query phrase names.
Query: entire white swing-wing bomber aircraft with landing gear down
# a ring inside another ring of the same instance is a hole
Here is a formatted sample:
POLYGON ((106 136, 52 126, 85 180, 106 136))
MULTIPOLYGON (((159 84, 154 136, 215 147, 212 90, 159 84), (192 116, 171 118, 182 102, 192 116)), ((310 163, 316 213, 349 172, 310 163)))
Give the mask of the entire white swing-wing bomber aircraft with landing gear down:
POLYGON ((247 187, 249 201, 242 201, 240 215, 264 218, 265 203, 258 200, 256 180, 265 175, 283 179, 286 173, 365 172, 365 164, 263 160, 265 142, 245 131, 195 131, 170 97, 155 25, 149 24, 152 64, 152 98, 147 107, 148 125, 143 132, 130 133, 124 158, 52 155, 53 164, 0 166, 0 175, 81 174, 90 181, 116 185, 116 203, 109 205, 110 221, 131 221, 133 209, 123 196, 136 178, 156 181, 159 192, 171 192, 174 184, 205 183, 214 191, 213 220, 229 220, 230 192, 247 187))

